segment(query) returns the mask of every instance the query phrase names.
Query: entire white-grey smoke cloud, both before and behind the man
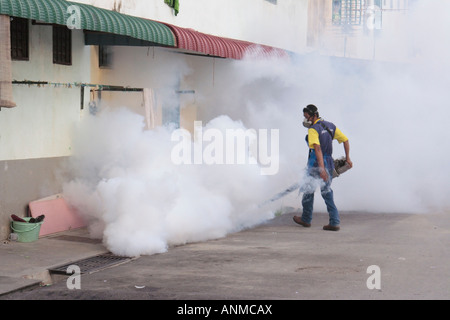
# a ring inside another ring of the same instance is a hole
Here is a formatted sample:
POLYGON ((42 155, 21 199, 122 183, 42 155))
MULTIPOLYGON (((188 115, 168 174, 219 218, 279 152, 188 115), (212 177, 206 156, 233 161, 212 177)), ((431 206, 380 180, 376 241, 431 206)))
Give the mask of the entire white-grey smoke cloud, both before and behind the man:
MULTIPOLYGON (((254 226, 281 204, 300 206, 297 193, 258 204, 302 178, 301 110, 313 103, 350 140, 354 168, 332 185, 341 211, 448 211, 450 8, 447 1, 417 7, 401 32, 383 35, 393 46, 378 48, 385 56, 406 48, 408 61, 356 64, 316 54, 224 61, 213 86, 197 79, 205 125, 280 130, 277 175, 262 176, 255 165, 174 165, 171 128, 145 131, 141 116, 105 109, 75 134, 76 178, 65 196, 116 254, 163 252, 254 226)), ((344 154, 336 142, 334 150, 344 154)), ((319 196, 315 210, 325 210, 319 196)))

